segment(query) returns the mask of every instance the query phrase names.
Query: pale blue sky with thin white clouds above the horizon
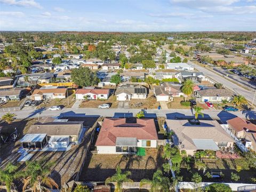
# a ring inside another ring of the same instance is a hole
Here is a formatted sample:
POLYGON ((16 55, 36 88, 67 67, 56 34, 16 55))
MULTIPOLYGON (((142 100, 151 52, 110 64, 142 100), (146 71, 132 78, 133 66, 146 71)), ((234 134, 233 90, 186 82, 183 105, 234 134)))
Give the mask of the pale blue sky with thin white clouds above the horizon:
POLYGON ((256 31, 256 0, 0 0, 0 30, 256 31))

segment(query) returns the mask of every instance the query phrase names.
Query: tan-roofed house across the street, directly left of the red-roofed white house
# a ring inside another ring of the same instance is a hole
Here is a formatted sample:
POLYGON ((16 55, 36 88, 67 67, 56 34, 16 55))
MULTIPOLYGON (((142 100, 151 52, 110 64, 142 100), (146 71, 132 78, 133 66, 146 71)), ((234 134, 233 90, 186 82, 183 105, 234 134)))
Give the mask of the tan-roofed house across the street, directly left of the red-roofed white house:
POLYGON ((31 94, 31 100, 45 100, 45 99, 65 99, 67 97, 66 88, 52 89, 49 87, 41 87, 41 89, 35 89, 31 94))

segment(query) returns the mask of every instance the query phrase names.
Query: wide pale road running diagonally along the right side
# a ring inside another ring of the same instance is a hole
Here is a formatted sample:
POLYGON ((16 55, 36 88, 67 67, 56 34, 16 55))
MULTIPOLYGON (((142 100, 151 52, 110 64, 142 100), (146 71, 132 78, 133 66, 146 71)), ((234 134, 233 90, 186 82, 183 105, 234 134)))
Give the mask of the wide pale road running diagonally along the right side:
MULTIPOLYGON (((164 47, 164 46, 163 46, 163 49, 166 50, 166 52, 172 52, 169 49, 166 49, 166 47, 164 47)), ((179 57, 183 58, 181 55, 179 55, 179 57)), ((227 89, 232 90, 232 91, 236 92, 237 94, 244 95, 244 97, 249 101, 249 103, 250 104, 252 103, 254 93, 255 93, 254 91, 247 91, 243 87, 238 86, 238 85, 228 81, 228 79, 226 79, 226 78, 223 78, 221 74, 215 74, 215 73, 213 73, 213 71, 211 71, 205 67, 196 65, 195 63, 193 63, 191 61, 188 61, 188 64, 194 65, 194 67, 197 70, 202 71, 205 76, 212 78, 215 82, 222 83, 227 89)), ((254 100, 254 104, 255 104, 255 100, 254 100)))

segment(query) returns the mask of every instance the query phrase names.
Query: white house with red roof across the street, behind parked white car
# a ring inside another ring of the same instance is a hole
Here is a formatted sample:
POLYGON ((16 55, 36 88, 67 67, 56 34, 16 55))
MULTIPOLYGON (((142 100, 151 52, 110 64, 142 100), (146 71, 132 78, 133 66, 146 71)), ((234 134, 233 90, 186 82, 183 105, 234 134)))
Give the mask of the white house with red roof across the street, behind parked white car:
POLYGON ((77 89, 76 99, 84 99, 85 97, 89 100, 95 99, 108 99, 110 90, 109 89, 77 89))

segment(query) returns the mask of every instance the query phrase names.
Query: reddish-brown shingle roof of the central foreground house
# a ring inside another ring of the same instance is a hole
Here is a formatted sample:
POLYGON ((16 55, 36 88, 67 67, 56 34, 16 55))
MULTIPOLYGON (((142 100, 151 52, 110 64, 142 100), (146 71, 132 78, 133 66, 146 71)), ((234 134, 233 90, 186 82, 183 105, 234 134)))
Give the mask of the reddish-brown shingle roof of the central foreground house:
POLYGON ((115 146, 117 137, 157 140, 154 119, 126 123, 125 118, 105 118, 95 146, 115 146))

